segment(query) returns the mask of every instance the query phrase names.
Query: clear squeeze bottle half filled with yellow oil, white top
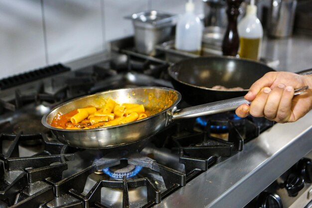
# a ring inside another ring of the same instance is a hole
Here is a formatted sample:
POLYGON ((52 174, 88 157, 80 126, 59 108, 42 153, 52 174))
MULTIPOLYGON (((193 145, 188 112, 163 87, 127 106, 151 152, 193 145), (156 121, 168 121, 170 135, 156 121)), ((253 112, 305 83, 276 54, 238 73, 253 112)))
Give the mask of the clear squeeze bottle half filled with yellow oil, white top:
POLYGON ((261 55, 261 44, 263 28, 257 17, 257 6, 251 0, 247 5, 245 17, 238 23, 239 50, 238 54, 242 58, 259 60, 261 55))

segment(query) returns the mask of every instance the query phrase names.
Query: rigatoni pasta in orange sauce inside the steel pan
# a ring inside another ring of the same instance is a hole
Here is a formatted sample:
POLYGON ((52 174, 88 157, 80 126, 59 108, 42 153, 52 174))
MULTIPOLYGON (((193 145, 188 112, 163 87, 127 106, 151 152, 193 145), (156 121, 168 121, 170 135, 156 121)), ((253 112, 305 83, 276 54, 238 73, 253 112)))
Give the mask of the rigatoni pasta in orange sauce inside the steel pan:
POLYGON ((51 126, 61 129, 93 129, 126 124, 147 118, 144 105, 137 103, 118 104, 108 99, 102 108, 86 106, 67 114, 58 113, 51 126), (104 107, 103 107, 104 106, 104 107))

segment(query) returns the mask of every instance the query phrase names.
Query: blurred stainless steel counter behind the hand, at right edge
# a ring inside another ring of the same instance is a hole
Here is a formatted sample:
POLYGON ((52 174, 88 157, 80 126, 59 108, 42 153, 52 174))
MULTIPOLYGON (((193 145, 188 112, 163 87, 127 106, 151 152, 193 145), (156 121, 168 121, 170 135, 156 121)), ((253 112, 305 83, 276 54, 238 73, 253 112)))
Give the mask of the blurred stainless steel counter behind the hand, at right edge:
POLYGON ((279 71, 298 72, 312 68, 312 36, 293 35, 284 39, 265 37, 262 57, 279 60, 279 71))

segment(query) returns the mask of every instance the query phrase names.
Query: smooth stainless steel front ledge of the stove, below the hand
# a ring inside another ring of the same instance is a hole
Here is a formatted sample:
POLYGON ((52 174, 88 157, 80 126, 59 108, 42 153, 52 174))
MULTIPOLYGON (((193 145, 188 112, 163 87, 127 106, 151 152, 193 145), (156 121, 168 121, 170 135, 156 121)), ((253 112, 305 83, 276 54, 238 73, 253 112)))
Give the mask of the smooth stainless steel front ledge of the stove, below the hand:
POLYGON ((275 124, 155 208, 242 208, 311 150, 312 111, 295 123, 275 124))

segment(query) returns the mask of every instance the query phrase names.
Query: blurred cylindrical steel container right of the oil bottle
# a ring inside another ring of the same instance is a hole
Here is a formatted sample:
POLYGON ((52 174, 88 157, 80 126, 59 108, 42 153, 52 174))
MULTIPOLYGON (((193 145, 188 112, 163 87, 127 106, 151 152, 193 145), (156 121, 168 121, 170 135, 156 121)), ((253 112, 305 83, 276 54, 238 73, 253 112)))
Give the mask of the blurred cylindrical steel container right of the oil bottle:
POLYGON ((271 0, 268 34, 273 37, 292 35, 297 0, 271 0))

